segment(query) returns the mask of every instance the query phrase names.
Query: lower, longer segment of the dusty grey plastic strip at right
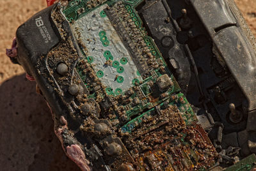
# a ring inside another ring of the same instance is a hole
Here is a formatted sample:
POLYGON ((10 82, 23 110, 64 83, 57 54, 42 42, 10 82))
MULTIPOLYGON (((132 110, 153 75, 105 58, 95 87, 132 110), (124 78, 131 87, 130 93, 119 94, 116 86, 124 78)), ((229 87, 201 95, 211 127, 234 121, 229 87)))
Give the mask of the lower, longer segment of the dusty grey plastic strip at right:
POLYGON ((248 98, 249 110, 254 110, 256 108, 256 56, 246 39, 235 26, 223 29, 213 38, 232 75, 248 98))

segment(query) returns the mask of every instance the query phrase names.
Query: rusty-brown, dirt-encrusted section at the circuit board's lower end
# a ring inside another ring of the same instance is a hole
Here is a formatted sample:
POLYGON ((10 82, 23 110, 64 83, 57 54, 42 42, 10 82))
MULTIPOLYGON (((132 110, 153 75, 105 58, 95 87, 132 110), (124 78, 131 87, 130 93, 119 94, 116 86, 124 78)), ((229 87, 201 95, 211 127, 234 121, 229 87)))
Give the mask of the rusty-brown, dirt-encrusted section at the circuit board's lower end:
POLYGON ((161 170, 159 168, 167 169, 172 165, 174 170, 202 170, 212 167, 218 160, 218 153, 202 128, 197 124, 186 125, 177 107, 169 106, 160 111, 160 114, 144 116, 138 129, 122 136, 122 142, 140 163, 140 168, 161 170), (197 160, 193 168, 182 161, 187 157, 185 151, 190 151, 189 155, 194 155, 191 151, 195 151, 197 160), (172 164, 165 160, 166 156, 172 164), (157 159, 164 162, 157 162, 157 159))

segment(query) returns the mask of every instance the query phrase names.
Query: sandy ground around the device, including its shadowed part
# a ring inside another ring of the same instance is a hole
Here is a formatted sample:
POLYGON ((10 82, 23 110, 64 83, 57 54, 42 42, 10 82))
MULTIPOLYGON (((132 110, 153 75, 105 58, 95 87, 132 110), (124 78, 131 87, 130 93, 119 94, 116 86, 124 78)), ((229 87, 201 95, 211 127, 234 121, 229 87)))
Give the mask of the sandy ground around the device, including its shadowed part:
MULTIPOLYGON (((256 36, 256 0, 236 3, 256 36)), ((45 6, 45 0, 0 0, 0 170, 79 170, 62 151, 35 82, 5 56, 17 27, 45 6)))

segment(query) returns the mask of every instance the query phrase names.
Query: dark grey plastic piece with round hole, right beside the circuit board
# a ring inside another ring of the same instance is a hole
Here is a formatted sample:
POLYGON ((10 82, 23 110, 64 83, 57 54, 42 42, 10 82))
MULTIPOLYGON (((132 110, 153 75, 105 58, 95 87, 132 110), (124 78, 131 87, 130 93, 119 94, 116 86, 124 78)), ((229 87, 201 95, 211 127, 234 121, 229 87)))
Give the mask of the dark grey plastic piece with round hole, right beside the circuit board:
POLYGON ((142 12, 143 18, 147 21, 148 29, 152 33, 154 41, 157 43, 157 47, 161 51, 163 57, 166 60, 174 60, 177 62, 177 68, 182 70, 182 75, 186 77, 176 77, 183 93, 186 94, 186 87, 189 84, 191 78, 191 71, 189 68, 189 61, 186 54, 184 54, 184 45, 178 43, 176 39, 177 32, 172 22, 164 22, 168 17, 168 13, 164 8, 163 1, 157 1, 154 4, 148 4, 142 12), (161 11, 161 12, 159 12, 161 11), (166 46, 163 44, 164 38, 170 41, 170 45, 166 46))

